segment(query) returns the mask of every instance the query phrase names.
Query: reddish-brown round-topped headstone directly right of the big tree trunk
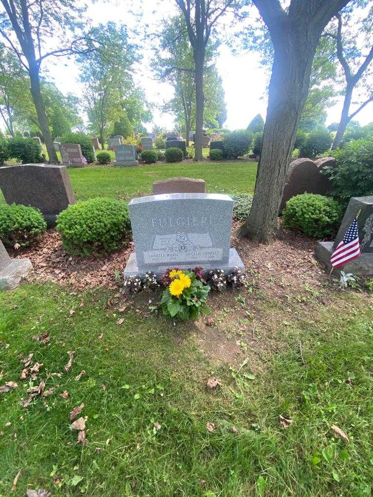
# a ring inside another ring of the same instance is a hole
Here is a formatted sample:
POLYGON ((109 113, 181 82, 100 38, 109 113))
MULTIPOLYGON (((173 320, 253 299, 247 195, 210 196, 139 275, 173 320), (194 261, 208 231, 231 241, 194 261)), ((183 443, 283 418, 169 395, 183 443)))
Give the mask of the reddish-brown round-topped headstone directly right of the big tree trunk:
POLYGON ((305 192, 326 195, 330 189, 329 179, 321 173, 313 161, 310 159, 296 159, 289 166, 280 210, 295 195, 301 195, 305 192))

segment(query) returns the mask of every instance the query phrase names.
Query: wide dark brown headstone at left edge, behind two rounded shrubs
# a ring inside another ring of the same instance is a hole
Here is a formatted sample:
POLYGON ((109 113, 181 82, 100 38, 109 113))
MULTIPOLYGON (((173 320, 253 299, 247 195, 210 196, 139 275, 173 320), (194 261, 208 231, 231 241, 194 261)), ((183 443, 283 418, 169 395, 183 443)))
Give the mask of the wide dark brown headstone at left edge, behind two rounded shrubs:
POLYGON ((22 164, 0 167, 0 188, 8 204, 31 205, 40 209, 49 226, 57 215, 75 204, 65 166, 22 164))

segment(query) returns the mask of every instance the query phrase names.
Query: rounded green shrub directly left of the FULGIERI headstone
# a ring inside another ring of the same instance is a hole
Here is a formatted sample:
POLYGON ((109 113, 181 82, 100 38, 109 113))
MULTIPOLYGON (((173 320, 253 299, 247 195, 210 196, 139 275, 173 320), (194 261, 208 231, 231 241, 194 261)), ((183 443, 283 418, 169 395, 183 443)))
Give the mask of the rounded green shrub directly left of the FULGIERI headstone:
POLYGON ((66 251, 78 255, 116 250, 131 237, 127 205, 105 197, 70 205, 59 214, 56 229, 66 251))

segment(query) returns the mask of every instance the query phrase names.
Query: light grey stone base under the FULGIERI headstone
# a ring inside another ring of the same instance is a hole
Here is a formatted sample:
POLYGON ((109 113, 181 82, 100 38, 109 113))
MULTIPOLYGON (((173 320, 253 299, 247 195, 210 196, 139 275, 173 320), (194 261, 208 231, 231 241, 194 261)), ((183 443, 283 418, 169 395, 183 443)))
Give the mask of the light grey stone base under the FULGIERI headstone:
MULTIPOLYGON (((182 269, 187 269, 188 267, 194 267, 196 265, 200 265, 201 267, 203 267, 205 271, 209 271, 210 269, 215 269, 215 268, 223 269, 226 274, 233 271, 236 267, 238 269, 241 269, 241 271, 245 270, 244 263, 242 262, 241 257, 238 255, 237 250, 235 248, 229 249, 229 261, 228 264, 226 265, 221 265, 219 264, 219 262, 212 262, 212 263, 200 262, 199 264, 193 264, 193 262, 187 262, 187 263, 174 264, 175 267, 181 267, 182 269)), ((168 264, 162 266, 154 265, 154 268, 152 268, 151 271, 153 271, 158 276, 161 276, 168 267, 173 267, 173 264, 169 262, 168 264)), ((123 275, 124 277, 130 275, 136 275, 142 277, 149 270, 150 269, 139 270, 137 266, 136 253, 132 252, 131 255, 129 256, 126 267, 124 268, 123 275)))

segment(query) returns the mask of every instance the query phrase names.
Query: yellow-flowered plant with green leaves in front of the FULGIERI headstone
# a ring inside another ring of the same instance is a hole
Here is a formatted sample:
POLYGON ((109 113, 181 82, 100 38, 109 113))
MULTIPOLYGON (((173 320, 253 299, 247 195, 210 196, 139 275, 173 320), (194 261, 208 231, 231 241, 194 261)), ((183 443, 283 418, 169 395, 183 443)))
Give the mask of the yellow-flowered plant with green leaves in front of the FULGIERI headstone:
POLYGON ((165 316, 187 321, 197 319, 201 312, 210 313, 206 304, 210 287, 199 281, 194 272, 171 269, 163 275, 162 281, 169 281, 161 299, 165 316))

